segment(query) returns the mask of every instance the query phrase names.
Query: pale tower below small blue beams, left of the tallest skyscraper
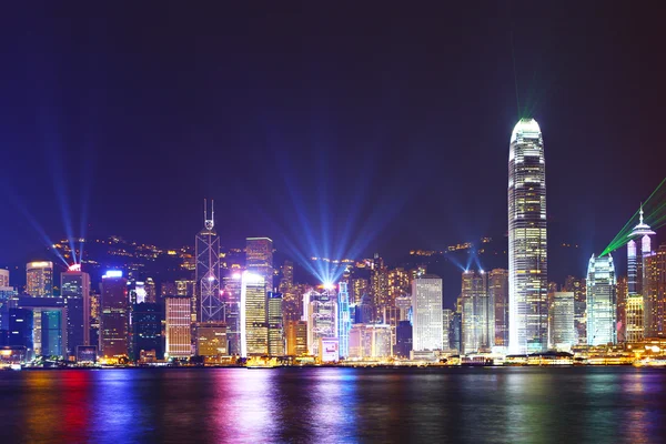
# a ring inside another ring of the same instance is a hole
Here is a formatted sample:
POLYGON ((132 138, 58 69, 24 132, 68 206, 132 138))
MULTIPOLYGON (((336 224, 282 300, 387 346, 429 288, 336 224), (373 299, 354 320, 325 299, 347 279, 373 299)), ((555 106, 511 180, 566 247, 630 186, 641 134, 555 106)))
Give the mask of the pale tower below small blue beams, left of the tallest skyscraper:
POLYGON ((495 307, 488 296, 484 271, 465 271, 462 276, 463 352, 488 352, 495 342, 495 307))

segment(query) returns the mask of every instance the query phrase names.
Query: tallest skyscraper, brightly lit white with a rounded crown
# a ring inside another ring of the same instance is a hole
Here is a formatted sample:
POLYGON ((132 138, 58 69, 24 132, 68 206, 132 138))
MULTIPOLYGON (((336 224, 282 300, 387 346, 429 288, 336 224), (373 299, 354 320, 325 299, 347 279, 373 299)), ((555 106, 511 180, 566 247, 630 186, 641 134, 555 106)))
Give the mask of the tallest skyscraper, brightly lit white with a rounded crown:
POLYGON ((508 154, 508 346, 511 353, 547 346, 546 171, 541 129, 521 119, 508 154))

